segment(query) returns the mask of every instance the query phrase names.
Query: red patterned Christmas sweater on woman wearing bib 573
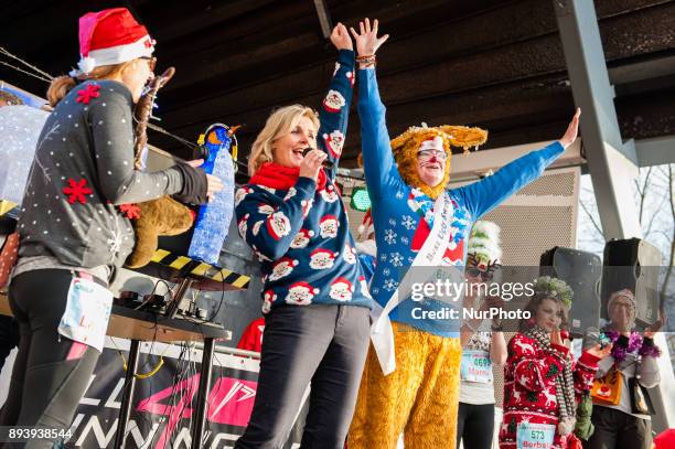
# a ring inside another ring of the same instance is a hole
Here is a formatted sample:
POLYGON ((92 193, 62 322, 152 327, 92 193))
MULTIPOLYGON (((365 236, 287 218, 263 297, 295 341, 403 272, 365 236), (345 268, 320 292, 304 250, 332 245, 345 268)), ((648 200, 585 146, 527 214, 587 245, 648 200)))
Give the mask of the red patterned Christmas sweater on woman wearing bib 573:
MULTIPOLYGON (((500 428, 500 448, 516 448, 516 432, 521 423, 549 424, 557 428, 556 376, 568 360, 572 363, 575 396, 578 399, 583 392, 591 389, 598 371, 598 357, 582 352, 575 363, 566 346, 551 344, 546 350, 522 333, 511 339, 508 359, 504 365, 504 418, 500 428)), ((557 430, 553 448, 567 448, 566 437, 561 437, 557 430)))

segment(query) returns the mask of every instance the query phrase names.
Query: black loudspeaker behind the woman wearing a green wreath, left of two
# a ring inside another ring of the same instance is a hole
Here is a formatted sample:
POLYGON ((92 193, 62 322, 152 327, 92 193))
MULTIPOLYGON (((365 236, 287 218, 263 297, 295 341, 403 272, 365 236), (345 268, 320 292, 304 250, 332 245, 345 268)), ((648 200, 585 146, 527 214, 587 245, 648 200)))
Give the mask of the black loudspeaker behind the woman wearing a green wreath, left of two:
POLYGON ((602 264, 592 253, 559 246, 539 258, 539 274, 564 280, 575 292, 569 311, 569 331, 581 336, 586 329, 600 323, 600 277, 602 264))

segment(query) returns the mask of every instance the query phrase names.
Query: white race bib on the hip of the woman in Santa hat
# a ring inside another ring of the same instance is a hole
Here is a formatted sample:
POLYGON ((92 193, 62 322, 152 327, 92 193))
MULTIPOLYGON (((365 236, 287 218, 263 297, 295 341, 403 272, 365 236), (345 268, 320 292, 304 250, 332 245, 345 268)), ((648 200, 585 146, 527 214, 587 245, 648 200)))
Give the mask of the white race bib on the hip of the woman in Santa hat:
POLYGON ((111 310, 113 293, 108 289, 93 280, 75 277, 58 333, 101 352, 111 310))

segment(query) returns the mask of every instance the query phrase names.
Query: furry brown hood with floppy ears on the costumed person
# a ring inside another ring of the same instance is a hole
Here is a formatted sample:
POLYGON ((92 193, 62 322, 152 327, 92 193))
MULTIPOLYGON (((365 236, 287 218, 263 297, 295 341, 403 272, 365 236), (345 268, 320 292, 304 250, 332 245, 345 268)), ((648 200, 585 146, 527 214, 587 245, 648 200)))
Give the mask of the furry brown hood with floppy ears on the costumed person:
POLYGON ((463 148, 464 152, 468 152, 470 148, 478 148, 486 140, 488 131, 481 128, 450 125, 429 128, 422 124, 421 127, 408 128, 392 140, 392 151, 404 181, 413 188, 420 189, 428 196, 437 199, 450 180, 450 158, 452 156, 450 147, 463 148), (448 153, 443 180, 437 185, 427 185, 417 173, 417 153, 425 149, 442 149, 448 153))

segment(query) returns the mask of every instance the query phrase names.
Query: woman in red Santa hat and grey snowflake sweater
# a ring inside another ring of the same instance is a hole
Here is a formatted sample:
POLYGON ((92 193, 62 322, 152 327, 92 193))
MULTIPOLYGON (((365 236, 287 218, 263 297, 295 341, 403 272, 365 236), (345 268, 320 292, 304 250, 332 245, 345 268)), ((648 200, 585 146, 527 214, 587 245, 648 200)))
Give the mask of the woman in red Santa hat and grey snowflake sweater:
POLYGON ((55 108, 38 140, 17 227, 9 298, 21 343, 2 426, 71 426, 103 349, 113 302, 106 287, 135 244, 121 206, 165 194, 204 203, 222 188, 190 164, 135 170, 132 108, 153 76, 153 50, 127 9, 87 13, 79 68, 47 92, 55 108))

